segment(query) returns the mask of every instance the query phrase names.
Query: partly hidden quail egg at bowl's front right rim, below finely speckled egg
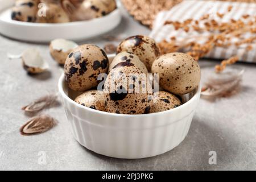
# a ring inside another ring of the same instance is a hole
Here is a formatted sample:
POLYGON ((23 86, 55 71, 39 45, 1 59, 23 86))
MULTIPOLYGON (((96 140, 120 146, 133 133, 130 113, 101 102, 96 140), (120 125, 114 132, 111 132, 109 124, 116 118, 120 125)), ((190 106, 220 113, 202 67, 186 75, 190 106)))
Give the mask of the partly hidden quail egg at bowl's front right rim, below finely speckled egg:
POLYGON ((181 105, 179 98, 165 91, 155 92, 153 101, 154 105, 150 110, 151 113, 174 109, 181 105))

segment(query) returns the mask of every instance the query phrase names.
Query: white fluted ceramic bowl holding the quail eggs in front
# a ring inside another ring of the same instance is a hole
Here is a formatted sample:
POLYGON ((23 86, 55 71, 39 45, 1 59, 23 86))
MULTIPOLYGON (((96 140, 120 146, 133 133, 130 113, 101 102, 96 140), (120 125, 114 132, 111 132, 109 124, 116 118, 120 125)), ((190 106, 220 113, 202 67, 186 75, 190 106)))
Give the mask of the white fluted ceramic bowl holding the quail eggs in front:
POLYGON ((123 159, 147 158, 172 150, 186 137, 200 98, 200 88, 185 104, 152 114, 106 113, 77 104, 79 93, 59 80, 73 135, 84 147, 98 154, 123 159))

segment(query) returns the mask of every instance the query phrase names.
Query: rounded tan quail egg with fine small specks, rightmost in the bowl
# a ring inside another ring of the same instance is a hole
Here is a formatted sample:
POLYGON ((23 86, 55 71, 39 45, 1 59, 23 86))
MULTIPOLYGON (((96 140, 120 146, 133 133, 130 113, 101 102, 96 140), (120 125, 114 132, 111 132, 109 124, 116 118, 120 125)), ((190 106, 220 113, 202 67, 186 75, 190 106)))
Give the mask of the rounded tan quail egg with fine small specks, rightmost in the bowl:
POLYGON ((158 73, 159 85, 174 94, 191 92, 201 79, 197 61, 180 52, 167 53, 156 59, 152 65, 152 73, 158 73))

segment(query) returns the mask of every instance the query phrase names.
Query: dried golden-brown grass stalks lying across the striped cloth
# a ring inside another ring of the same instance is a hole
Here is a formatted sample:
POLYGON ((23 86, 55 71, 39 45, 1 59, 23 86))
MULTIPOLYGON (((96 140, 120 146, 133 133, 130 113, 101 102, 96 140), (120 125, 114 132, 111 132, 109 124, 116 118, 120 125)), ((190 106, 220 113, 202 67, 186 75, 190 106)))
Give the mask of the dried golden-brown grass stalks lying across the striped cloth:
MULTIPOLYGON (((162 54, 176 51, 187 52, 189 55, 199 60, 201 57, 207 55, 214 47, 229 47, 236 46, 240 48, 247 44, 246 49, 251 50, 251 44, 255 44, 256 36, 256 16, 243 15, 242 19, 230 19, 228 22, 223 22, 221 19, 232 10, 229 6, 226 13, 216 13, 216 19, 210 17, 209 14, 203 15, 199 19, 187 19, 182 22, 167 20, 164 24, 171 25, 175 30, 183 30, 188 35, 183 41, 177 41, 171 38, 171 41, 162 40, 158 43, 162 54), (201 23, 200 23, 201 22, 201 23), (197 32, 199 35, 189 34, 190 32, 197 32), (205 33, 207 33, 205 35, 205 33), (249 34, 250 37, 246 35, 249 34), (189 37, 189 35, 191 37, 189 37), (235 42, 232 41, 236 40, 235 42), (192 39, 192 40, 191 40, 192 39), (238 39, 238 40, 237 40, 238 39), (203 42, 201 41, 203 40, 203 42), (200 43, 199 43, 200 42, 200 43)), ((232 61, 236 57, 231 58, 232 61)), ((225 60, 223 64, 231 60, 225 60)), ((237 60, 236 60, 237 61, 237 60)), ((234 61, 234 62, 236 62, 234 61)), ((224 67, 217 67, 225 68, 224 67)))

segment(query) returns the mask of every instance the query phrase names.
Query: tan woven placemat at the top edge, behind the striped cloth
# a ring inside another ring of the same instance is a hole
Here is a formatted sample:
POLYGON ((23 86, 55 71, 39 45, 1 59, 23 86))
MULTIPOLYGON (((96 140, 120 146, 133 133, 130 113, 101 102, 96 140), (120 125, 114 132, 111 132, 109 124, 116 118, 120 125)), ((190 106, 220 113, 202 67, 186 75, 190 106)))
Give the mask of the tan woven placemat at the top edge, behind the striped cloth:
MULTIPOLYGON (((164 10, 170 10, 183 0, 122 0, 123 6, 135 20, 152 28, 155 16, 164 10)), ((256 0, 220 0, 233 2, 254 2, 256 0)))

